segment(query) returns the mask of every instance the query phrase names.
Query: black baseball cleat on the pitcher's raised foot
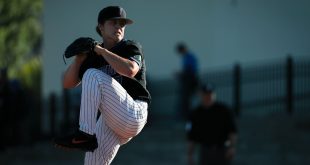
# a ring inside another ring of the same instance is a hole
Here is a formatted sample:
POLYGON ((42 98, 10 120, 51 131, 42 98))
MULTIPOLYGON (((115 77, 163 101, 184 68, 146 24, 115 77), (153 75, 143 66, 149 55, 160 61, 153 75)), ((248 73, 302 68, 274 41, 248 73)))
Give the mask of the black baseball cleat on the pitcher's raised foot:
POLYGON ((80 130, 75 133, 54 139, 56 147, 63 149, 78 149, 93 152, 98 147, 96 135, 89 135, 80 130))

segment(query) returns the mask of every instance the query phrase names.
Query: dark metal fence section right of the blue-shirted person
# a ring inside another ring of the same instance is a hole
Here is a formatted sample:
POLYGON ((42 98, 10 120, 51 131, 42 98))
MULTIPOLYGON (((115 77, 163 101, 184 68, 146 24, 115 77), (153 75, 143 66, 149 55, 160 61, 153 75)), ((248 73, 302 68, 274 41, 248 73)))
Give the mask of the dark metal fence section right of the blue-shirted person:
POLYGON ((291 114, 310 106, 306 103, 310 99, 310 59, 289 56, 268 64, 236 64, 231 70, 207 72, 203 78, 216 84, 219 99, 231 105, 237 115, 250 109, 291 114))

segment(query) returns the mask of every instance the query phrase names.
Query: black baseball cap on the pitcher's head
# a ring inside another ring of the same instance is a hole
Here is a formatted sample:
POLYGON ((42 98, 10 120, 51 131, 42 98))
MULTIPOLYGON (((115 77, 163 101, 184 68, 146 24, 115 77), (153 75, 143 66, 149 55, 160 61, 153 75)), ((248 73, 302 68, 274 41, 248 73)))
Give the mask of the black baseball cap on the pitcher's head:
POLYGON ((108 6, 103 8, 98 15, 98 23, 104 23, 111 19, 122 19, 126 21, 126 24, 132 24, 133 21, 126 18, 125 10, 120 6, 108 6))

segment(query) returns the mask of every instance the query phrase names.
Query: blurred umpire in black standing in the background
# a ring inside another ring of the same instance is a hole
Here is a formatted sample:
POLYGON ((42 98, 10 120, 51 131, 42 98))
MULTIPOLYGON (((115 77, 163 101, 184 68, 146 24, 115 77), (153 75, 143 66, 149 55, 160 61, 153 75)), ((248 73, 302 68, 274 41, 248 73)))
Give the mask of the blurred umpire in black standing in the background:
POLYGON ((201 103, 191 111, 186 124, 188 165, 194 165, 199 147, 200 165, 229 165, 235 155, 237 128, 232 111, 216 101, 214 87, 203 85, 201 103))

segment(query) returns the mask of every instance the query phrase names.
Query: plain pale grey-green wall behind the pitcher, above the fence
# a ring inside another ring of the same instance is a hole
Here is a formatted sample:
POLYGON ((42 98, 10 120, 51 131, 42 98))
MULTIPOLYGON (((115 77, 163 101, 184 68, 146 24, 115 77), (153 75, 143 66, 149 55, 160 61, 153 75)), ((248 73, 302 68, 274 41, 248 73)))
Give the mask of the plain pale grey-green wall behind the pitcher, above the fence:
POLYGON ((152 79, 169 78, 179 69, 178 41, 197 54, 201 71, 310 54, 309 0, 45 0, 44 5, 45 97, 62 90, 66 46, 80 36, 100 39, 97 14, 107 5, 123 6, 135 21, 126 38, 143 45, 152 79))

